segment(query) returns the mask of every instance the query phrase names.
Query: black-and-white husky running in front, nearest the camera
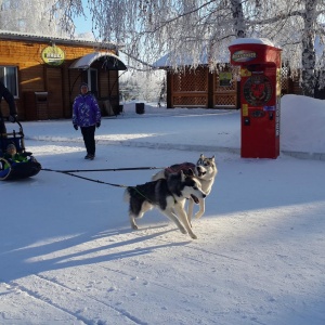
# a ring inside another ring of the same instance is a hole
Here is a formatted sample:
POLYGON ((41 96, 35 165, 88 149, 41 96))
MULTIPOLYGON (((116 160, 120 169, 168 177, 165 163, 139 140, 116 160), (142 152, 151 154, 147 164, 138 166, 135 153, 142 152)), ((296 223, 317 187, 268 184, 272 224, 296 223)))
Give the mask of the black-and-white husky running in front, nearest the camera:
POLYGON ((165 179, 128 186, 125 191, 125 200, 130 204, 129 217, 132 229, 138 229, 135 218, 142 218, 147 210, 157 207, 183 234, 188 233, 196 239, 184 210, 186 198, 190 197, 197 204, 206 197, 192 170, 186 174, 180 170, 169 173, 165 179))

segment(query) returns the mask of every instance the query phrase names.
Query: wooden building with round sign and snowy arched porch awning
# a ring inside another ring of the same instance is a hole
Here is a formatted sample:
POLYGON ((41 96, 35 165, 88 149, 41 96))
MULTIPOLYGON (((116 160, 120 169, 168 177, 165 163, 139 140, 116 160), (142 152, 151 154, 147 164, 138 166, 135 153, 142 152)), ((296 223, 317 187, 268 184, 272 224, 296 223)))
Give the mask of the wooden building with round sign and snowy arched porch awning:
MULTIPOLYGON (((72 117, 87 82, 103 115, 118 113, 118 72, 127 69, 114 43, 0 31, 0 80, 14 95, 20 120, 72 117)), ((5 101, 3 116, 9 116, 5 101)))

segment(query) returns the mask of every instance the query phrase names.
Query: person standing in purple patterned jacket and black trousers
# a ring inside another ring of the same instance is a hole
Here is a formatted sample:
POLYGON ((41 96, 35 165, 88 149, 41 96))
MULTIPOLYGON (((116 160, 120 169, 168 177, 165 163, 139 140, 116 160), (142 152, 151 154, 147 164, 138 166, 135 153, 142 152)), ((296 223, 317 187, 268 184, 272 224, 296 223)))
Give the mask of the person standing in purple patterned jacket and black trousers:
POLYGON ((88 91, 88 84, 82 82, 80 94, 76 96, 73 105, 73 125, 76 130, 81 129, 87 155, 84 159, 93 160, 95 157, 95 128, 101 126, 101 109, 94 95, 88 91))

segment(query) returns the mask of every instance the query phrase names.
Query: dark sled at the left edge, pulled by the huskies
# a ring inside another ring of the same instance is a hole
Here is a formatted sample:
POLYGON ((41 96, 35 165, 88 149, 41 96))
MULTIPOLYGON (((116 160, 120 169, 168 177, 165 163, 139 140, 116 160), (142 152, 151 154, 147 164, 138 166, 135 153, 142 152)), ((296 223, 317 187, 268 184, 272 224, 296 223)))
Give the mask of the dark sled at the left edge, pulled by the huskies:
POLYGON ((41 170, 41 165, 31 153, 26 152, 24 143, 24 131, 20 121, 20 131, 0 134, 0 181, 21 180, 36 176, 41 170), (26 161, 11 161, 4 158, 6 146, 14 144, 18 154, 26 156, 26 161), (9 166, 9 167, 8 167, 9 166))

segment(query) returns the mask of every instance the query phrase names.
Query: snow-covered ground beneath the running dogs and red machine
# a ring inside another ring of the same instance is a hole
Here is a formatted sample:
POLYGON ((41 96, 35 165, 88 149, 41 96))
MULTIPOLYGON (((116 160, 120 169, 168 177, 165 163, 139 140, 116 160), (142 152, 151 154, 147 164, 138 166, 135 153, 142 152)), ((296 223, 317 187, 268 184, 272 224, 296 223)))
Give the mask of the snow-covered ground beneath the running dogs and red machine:
POLYGON ((121 187, 53 171, 1 182, 0 324, 325 324, 325 104, 286 95, 281 121, 281 156, 243 159, 237 110, 128 104, 103 118, 93 161, 70 120, 24 122, 43 168, 204 153, 219 173, 196 240, 157 210, 130 229, 122 186, 155 170, 78 173, 121 187))

